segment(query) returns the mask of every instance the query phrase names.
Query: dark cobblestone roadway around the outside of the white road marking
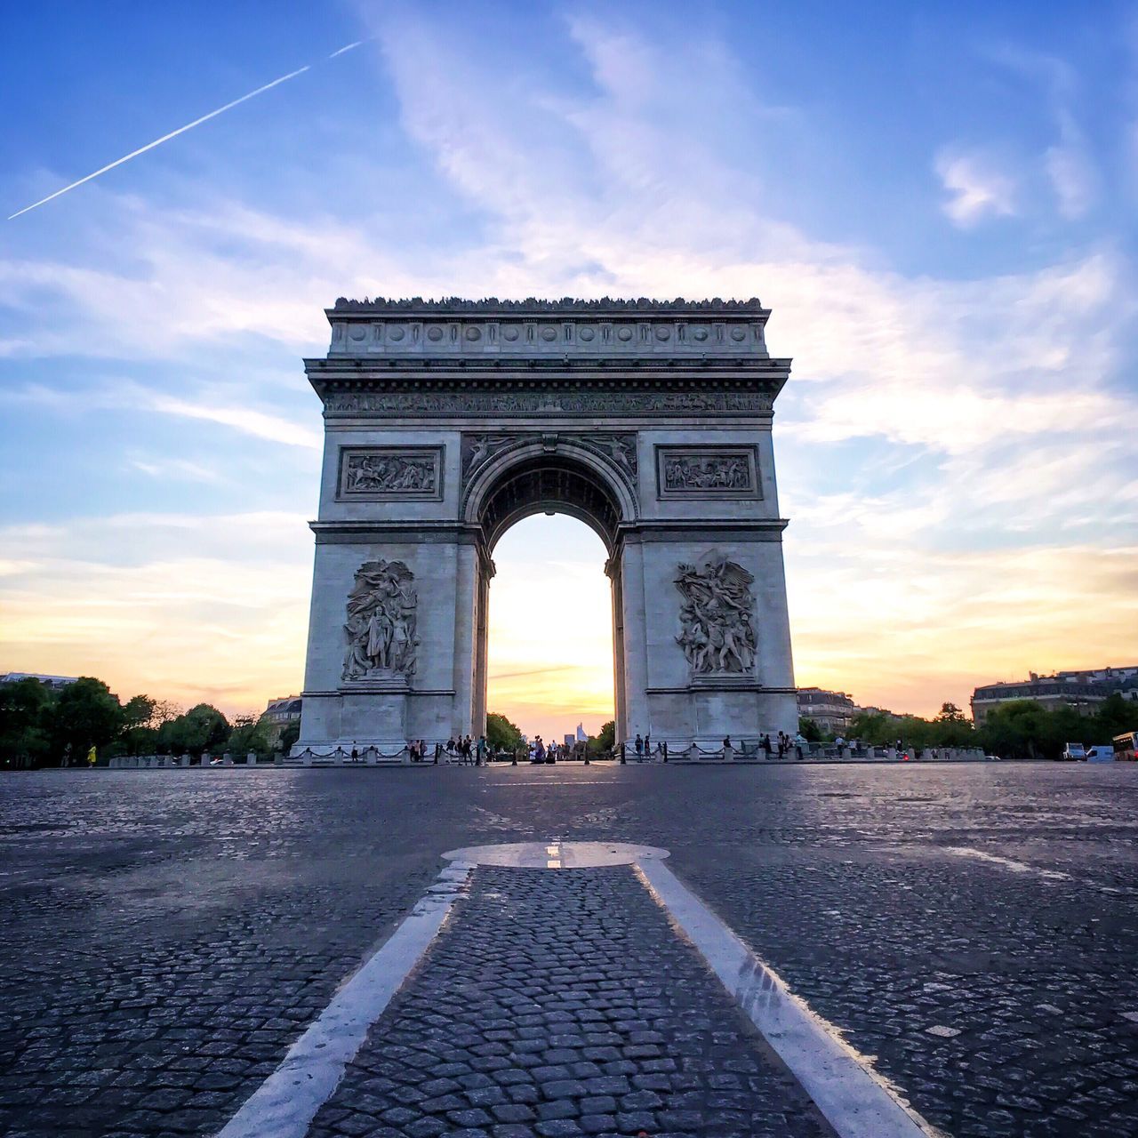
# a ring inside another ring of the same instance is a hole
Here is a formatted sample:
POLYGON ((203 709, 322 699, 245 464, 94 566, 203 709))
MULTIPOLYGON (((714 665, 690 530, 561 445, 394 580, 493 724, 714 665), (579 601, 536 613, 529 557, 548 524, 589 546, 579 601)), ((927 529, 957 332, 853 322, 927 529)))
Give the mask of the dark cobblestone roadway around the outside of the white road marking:
POLYGON ((947 1132, 1138 1132, 1122 764, 6 774, 0 1132, 214 1132, 443 850, 554 834, 670 849, 947 1132))

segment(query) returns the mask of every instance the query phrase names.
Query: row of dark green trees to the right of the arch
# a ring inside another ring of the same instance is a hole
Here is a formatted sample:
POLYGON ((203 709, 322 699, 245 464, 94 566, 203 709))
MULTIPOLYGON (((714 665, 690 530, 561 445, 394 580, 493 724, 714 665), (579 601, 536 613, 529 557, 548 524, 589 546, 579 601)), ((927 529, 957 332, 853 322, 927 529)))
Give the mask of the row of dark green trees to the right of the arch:
MULTIPOLYGON (((810 742, 834 739, 832 732, 824 732, 806 717, 799 720, 799 731, 810 742)), ((1138 703, 1115 692, 1094 715, 1080 715, 1069 707, 1052 710, 1036 700, 1012 700, 992 708, 979 727, 955 703, 941 704, 932 719, 861 711, 842 734, 873 747, 890 747, 900 740, 918 751, 979 747, 1001 759, 1057 759, 1067 743, 1108 744, 1127 731, 1138 731, 1138 703)))

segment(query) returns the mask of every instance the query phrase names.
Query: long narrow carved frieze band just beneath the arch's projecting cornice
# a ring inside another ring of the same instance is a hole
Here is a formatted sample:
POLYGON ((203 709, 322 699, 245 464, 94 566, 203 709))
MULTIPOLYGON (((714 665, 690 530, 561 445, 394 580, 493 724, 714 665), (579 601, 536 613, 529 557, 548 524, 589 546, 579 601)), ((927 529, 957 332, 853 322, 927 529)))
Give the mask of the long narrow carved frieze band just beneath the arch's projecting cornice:
POLYGON ((684 415, 764 414, 774 397, 753 391, 604 391, 582 390, 456 390, 324 393, 330 415, 445 415, 448 418, 513 418, 527 415, 684 415))

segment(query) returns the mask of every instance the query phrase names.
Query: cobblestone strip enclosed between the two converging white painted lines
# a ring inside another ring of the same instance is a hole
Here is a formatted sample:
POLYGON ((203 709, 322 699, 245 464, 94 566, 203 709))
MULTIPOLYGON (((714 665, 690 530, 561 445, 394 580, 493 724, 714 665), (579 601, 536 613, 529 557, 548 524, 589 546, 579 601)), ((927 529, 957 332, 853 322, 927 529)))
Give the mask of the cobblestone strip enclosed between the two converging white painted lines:
POLYGON ((310 1136, 642 1131, 832 1135, 633 869, 618 866, 477 869, 471 899, 310 1136))

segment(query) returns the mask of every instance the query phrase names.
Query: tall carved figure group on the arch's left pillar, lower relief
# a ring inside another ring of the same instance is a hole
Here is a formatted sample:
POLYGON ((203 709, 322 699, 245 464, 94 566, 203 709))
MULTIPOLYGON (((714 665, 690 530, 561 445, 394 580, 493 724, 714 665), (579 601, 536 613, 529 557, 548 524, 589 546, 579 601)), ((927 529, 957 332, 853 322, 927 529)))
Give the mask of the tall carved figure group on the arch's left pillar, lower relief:
POLYGON ((414 574, 402 561, 366 561, 348 594, 344 679, 410 676, 415 670, 414 574))

